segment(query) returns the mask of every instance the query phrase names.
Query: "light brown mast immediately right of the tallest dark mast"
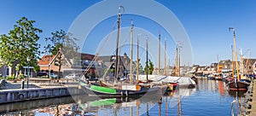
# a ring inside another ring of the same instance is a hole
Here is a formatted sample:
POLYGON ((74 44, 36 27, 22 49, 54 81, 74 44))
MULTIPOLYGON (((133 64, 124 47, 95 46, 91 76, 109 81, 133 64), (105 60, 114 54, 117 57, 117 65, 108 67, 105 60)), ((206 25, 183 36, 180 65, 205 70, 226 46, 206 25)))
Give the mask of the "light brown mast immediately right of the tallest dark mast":
POLYGON ((133 22, 131 20, 131 60, 130 60, 130 83, 132 80, 133 72, 132 72, 132 56, 133 56, 133 22))

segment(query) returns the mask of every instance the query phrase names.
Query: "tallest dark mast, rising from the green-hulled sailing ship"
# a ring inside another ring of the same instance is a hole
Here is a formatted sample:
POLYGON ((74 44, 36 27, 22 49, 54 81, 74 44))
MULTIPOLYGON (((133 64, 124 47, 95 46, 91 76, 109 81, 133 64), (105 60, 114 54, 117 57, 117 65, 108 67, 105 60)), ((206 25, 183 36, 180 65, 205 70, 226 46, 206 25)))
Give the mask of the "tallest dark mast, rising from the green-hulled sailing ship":
POLYGON ((124 7, 119 6, 119 14, 118 14, 118 33, 116 38, 116 51, 115 51, 115 69, 114 69, 114 84, 116 84, 116 79, 118 78, 119 74, 119 33, 120 33, 120 19, 121 19, 121 13, 120 10, 124 9, 124 7))

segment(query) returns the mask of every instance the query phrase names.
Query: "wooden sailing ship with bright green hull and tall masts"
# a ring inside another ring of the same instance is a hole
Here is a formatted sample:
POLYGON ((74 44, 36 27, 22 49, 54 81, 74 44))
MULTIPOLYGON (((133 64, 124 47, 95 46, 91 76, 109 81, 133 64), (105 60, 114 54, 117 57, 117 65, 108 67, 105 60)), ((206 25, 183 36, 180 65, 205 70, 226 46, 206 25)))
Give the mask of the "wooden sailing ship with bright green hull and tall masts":
MULTIPOLYGON (((139 96, 149 92, 155 93, 157 90, 160 90, 159 86, 152 86, 151 84, 137 84, 137 83, 132 84, 131 79, 133 74, 131 71, 130 71, 130 84, 117 84, 116 82, 119 76, 119 32, 120 32, 120 19, 121 19, 120 9, 121 8, 123 7, 122 6, 119 7, 119 14, 118 14, 118 33, 117 33, 117 40, 116 40, 114 83, 107 84, 102 81, 98 83, 92 83, 89 81, 86 82, 83 79, 80 80, 79 84, 83 86, 83 89, 90 96, 109 96, 109 97, 139 96)), ((132 55, 132 47, 133 47, 133 23, 131 22, 131 55, 132 55)), ((147 48, 148 48, 148 43, 147 43, 147 48)), ((147 49, 147 53, 148 53, 148 49, 147 49)), ((131 56, 131 61, 132 61, 132 56, 131 56)), ((147 62, 148 62, 148 54, 147 54, 147 62)), ((132 63, 130 65, 132 65, 132 63)), ((138 68, 138 65, 137 65, 137 68, 138 68)), ((148 76, 147 76, 147 80, 148 80, 148 76)))

